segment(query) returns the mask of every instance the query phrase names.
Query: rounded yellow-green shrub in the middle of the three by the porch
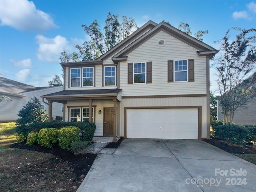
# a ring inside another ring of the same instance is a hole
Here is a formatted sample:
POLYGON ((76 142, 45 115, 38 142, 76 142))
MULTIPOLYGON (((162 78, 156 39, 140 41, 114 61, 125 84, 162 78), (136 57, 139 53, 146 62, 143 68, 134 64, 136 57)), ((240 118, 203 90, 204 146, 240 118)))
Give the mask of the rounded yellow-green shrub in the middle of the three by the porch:
POLYGON ((43 128, 38 133, 38 144, 44 147, 51 148, 57 142, 58 129, 43 128))

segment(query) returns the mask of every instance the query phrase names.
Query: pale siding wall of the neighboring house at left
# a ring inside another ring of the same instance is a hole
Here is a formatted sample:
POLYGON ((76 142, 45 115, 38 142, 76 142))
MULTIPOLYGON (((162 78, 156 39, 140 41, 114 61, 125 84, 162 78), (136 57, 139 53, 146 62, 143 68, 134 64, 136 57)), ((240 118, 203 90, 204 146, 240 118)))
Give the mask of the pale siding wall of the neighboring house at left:
MULTIPOLYGON (((25 106, 28 101, 31 100, 31 98, 37 97, 41 104, 44 105, 44 109, 46 110, 46 113, 48 114, 48 105, 42 102, 42 98, 40 96, 59 92, 62 91, 63 87, 52 87, 52 88, 46 88, 36 91, 30 91, 30 92, 24 92, 22 93, 25 97, 16 97, 16 96, 9 96, 12 100, 7 102, 3 100, 1 102, 0 107, 0 120, 1 121, 16 121, 19 116, 17 115, 18 112, 25 106)), ((8 96, 8 95, 7 95, 8 96)), ((48 101, 46 101, 48 102, 48 101)), ((63 112, 61 112, 61 108, 63 107, 63 104, 61 103, 52 103, 52 117, 55 120, 56 116, 63 116, 63 112)))

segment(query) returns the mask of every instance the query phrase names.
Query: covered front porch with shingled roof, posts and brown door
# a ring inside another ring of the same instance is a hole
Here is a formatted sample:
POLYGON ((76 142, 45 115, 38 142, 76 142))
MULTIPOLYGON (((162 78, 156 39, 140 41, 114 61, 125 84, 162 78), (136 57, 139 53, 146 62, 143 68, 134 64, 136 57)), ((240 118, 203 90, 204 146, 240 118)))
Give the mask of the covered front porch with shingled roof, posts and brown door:
POLYGON ((52 103, 62 103, 64 104, 63 121, 88 121, 94 123, 98 131, 97 134, 99 134, 99 130, 102 130, 101 136, 113 136, 113 142, 116 142, 117 108, 118 102, 122 100, 121 93, 122 89, 63 90, 44 95, 42 100, 45 103, 44 99, 48 101, 49 122, 52 121, 52 103), (76 116, 79 116, 79 118, 76 116))

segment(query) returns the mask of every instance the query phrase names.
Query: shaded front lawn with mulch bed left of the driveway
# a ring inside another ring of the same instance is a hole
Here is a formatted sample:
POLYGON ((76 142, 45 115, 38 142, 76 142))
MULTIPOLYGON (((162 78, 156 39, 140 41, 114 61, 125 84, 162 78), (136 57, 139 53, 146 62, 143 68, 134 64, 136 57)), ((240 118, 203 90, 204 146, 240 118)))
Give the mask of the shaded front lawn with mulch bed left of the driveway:
POLYGON ((75 192, 96 155, 74 155, 58 146, 17 143, 15 123, 0 124, 1 192, 75 192))

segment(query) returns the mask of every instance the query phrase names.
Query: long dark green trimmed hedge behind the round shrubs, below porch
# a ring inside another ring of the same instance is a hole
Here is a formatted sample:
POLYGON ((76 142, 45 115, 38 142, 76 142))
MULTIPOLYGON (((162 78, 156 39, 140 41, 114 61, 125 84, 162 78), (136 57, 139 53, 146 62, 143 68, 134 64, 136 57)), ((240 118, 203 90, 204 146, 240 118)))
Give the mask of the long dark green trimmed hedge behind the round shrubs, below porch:
MULTIPOLYGON (((56 128, 61 129, 66 126, 75 126, 80 129, 80 140, 92 143, 92 138, 96 130, 96 126, 89 122, 44 122, 44 123, 31 123, 29 125, 22 125, 16 127, 18 136, 28 136, 30 132, 39 132, 42 128, 56 128)), ((26 137, 25 137, 26 138, 26 137)))

